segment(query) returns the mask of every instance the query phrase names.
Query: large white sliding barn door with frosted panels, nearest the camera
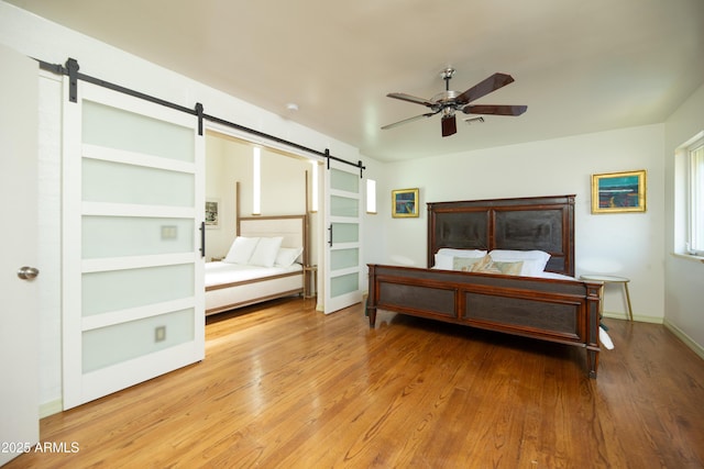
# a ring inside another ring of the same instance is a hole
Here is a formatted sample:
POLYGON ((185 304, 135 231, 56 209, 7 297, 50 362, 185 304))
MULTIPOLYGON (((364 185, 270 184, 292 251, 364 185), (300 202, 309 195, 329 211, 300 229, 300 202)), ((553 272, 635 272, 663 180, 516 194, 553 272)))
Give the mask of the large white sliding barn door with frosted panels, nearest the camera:
POLYGON ((82 81, 64 126, 69 409, 204 358, 205 145, 195 116, 82 81))

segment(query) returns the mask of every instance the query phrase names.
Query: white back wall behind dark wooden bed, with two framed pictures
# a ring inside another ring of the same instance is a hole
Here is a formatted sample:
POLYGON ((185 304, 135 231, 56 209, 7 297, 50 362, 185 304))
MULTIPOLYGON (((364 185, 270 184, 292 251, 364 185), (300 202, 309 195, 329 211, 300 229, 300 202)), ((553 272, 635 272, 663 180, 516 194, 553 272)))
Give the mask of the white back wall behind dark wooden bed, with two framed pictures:
MULTIPOLYGON (((576 194, 576 275, 630 278, 634 316, 661 322, 663 142, 658 124, 389 164, 380 187, 386 248, 373 261, 426 267, 426 202, 576 194), (591 175, 636 169, 648 171, 647 212, 593 215, 591 175), (420 217, 392 219, 391 191, 415 187, 420 217)), ((625 317, 623 289, 607 289, 605 311, 625 317)))

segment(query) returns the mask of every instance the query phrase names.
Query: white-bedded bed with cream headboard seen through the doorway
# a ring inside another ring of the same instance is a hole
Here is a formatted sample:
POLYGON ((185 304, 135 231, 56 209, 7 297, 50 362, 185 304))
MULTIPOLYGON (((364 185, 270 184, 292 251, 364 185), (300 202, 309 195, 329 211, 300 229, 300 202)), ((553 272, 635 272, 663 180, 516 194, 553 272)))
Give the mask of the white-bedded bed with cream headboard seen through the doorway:
POLYGON ((239 217, 228 255, 206 263, 206 315, 301 294, 307 245, 307 215, 239 217))

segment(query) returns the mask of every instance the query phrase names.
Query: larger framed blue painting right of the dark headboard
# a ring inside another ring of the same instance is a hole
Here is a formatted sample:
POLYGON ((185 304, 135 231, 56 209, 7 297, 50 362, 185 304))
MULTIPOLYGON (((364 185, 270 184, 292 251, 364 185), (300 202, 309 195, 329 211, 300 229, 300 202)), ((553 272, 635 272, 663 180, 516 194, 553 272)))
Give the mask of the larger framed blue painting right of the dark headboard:
POLYGON ((645 169, 592 175, 592 213, 645 211, 645 169))

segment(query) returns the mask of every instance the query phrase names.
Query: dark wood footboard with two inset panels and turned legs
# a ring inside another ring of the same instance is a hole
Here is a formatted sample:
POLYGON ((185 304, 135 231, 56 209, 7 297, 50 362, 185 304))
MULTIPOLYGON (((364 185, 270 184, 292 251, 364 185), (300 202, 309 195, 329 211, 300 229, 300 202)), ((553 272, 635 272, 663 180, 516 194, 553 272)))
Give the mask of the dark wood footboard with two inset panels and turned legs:
POLYGON ((598 367, 598 282, 370 265, 366 312, 376 310, 504 332, 586 349, 598 367))

